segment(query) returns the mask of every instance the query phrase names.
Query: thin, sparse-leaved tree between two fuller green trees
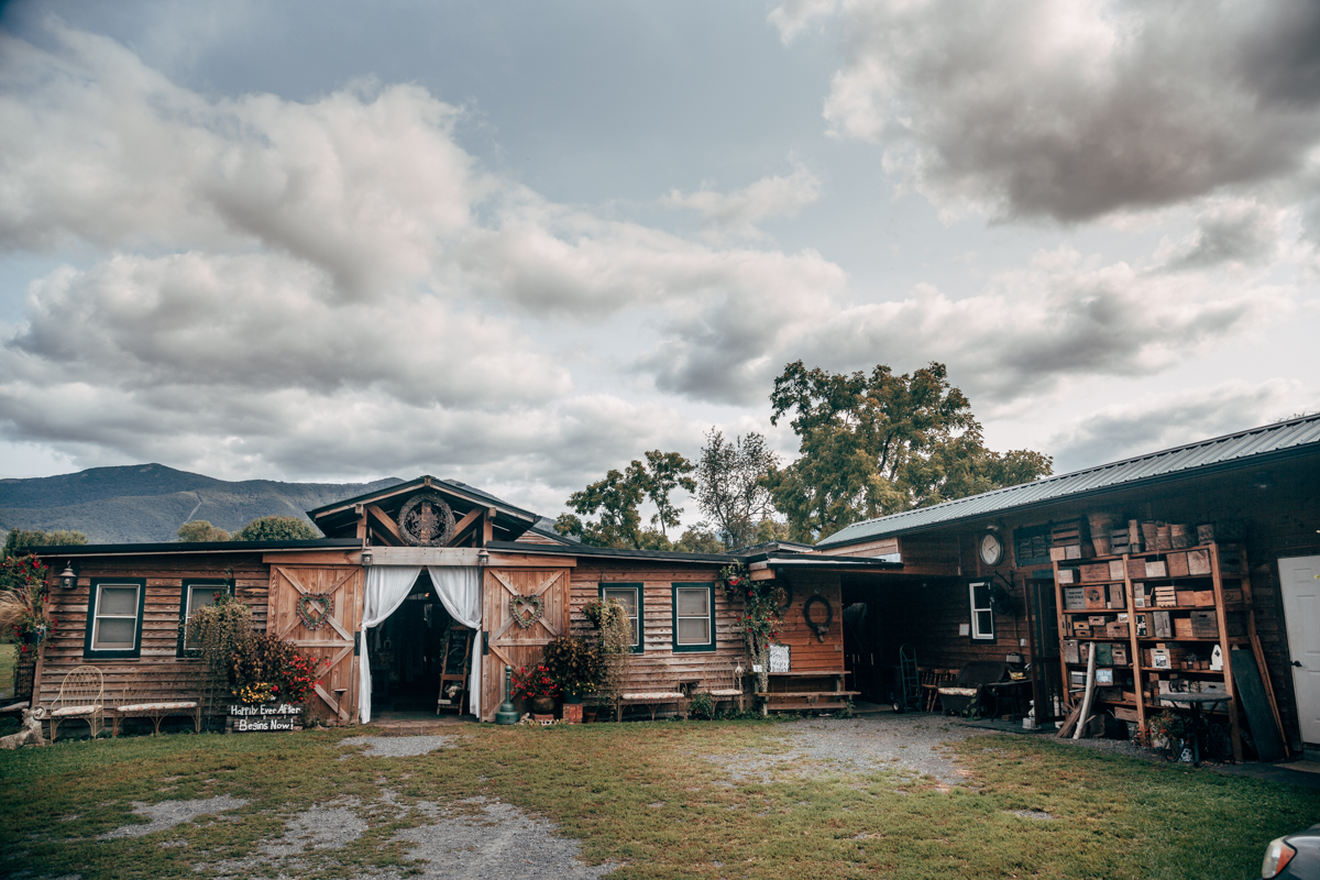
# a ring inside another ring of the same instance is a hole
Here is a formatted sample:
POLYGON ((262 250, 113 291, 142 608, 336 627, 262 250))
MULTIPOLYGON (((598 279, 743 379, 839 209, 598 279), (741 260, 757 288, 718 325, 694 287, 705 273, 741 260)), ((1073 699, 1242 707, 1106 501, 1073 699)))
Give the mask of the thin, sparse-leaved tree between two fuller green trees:
POLYGON ((779 456, 756 431, 726 441, 711 427, 697 460, 697 504, 729 548, 756 542, 762 522, 772 522, 774 504, 766 478, 779 456))

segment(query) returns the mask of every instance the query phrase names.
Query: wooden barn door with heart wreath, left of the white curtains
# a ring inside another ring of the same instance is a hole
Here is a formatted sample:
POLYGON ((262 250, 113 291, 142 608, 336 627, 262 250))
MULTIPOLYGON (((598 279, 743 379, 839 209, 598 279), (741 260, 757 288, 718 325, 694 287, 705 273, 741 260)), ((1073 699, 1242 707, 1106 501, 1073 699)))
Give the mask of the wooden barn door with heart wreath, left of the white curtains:
MULTIPOLYGON (((358 566, 271 566, 271 596, 267 631, 292 641, 304 657, 330 662, 315 686, 315 695, 338 716, 350 723, 358 714, 358 676, 352 646, 362 624, 363 570, 358 566), (298 615, 298 603, 308 596, 305 611, 317 625, 309 627, 298 615), (330 608, 318 621, 325 602, 330 608)), ((318 666, 318 672, 323 666, 318 666)))

